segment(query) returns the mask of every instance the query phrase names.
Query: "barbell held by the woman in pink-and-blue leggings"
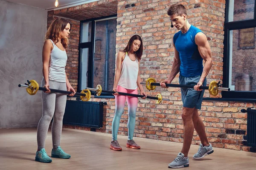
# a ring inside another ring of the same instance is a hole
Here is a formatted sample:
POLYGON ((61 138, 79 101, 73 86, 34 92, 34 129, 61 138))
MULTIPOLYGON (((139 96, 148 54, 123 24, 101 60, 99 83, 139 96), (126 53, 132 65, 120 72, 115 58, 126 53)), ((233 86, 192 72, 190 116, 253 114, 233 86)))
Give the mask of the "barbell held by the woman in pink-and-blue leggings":
MULTIPOLYGON (((96 88, 86 88, 87 90, 90 90, 90 91, 96 91, 96 95, 97 96, 100 96, 100 94, 102 92, 105 92, 105 93, 110 93, 110 94, 114 94, 114 93, 118 93, 120 95, 125 95, 125 96, 134 96, 134 97, 144 97, 143 95, 139 95, 139 94, 129 94, 129 93, 123 93, 123 92, 118 92, 118 91, 108 91, 108 90, 102 90, 102 87, 101 85, 97 85, 96 88)), ((169 99, 163 99, 162 98, 162 95, 161 94, 157 94, 157 96, 153 97, 153 96, 147 96, 146 97, 147 99, 155 99, 157 104, 159 104, 162 100, 165 100, 165 101, 170 101, 169 99)))

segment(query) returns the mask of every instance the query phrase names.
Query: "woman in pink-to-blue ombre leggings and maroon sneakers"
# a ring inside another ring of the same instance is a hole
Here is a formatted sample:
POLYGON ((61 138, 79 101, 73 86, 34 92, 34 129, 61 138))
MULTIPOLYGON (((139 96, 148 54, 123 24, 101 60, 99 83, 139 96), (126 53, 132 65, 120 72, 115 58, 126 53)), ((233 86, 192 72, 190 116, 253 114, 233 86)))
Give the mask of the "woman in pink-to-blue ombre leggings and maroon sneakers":
MULTIPOLYGON (((116 57, 116 72, 113 85, 113 91, 138 94, 137 86, 140 89, 140 94, 147 96, 140 84, 140 59, 143 53, 143 43, 139 35, 134 35, 128 42, 124 50, 119 51, 116 57)), ((138 98, 132 96, 123 96, 115 94, 116 111, 112 121, 112 142, 110 149, 122 150, 117 142, 117 133, 119 129, 119 122, 125 108, 125 100, 128 103, 128 141, 126 147, 133 149, 140 149, 140 146, 133 140, 136 110, 138 105, 138 98)), ((143 99, 145 99, 143 97, 143 99)))

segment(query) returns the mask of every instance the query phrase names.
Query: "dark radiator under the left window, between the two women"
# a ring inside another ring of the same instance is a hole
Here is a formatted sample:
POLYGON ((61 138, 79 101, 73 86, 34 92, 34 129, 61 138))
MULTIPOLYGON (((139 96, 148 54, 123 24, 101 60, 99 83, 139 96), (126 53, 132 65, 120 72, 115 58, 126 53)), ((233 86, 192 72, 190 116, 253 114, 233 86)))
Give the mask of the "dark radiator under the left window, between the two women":
POLYGON ((63 124, 83 127, 102 127, 104 104, 104 102, 67 100, 63 124))

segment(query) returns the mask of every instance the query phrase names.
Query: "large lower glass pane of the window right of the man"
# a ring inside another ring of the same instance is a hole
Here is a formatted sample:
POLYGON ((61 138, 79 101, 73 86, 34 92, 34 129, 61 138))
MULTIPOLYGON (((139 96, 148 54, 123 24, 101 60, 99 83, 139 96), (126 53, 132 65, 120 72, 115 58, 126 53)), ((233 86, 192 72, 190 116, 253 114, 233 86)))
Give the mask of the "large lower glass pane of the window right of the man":
POLYGON ((255 28, 230 31, 231 90, 256 91, 255 28))

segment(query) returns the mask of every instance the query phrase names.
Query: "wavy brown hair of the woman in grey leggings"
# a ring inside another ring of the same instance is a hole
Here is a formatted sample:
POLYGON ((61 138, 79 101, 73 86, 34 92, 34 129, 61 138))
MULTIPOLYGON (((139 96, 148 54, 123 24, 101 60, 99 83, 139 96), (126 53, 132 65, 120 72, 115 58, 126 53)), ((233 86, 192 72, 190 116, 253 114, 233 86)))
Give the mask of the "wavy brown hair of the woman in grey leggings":
MULTIPOLYGON (((49 26, 47 33, 45 34, 45 40, 51 39, 54 43, 57 43, 59 41, 58 39, 61 37, 61 31, 63 31, 66 28, 68 23, 70 24, 71 30, 72 24, 68 20, 64 18, 58 18, 54 20, 49 26)), ((61 39, 61 44, 65 49, 67 48, 68 43, 69 41, 67 38, 61 39)))

